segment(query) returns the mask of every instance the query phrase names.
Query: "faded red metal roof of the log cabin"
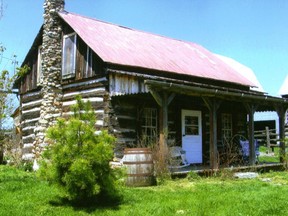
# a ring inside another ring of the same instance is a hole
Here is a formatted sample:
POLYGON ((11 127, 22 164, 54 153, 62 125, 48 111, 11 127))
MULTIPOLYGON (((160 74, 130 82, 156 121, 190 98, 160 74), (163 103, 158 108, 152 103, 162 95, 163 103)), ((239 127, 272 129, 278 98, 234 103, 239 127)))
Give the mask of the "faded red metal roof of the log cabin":
POLYGON ((98 21, 59 15, 104 62, 253 86, 202 46, 98 21))

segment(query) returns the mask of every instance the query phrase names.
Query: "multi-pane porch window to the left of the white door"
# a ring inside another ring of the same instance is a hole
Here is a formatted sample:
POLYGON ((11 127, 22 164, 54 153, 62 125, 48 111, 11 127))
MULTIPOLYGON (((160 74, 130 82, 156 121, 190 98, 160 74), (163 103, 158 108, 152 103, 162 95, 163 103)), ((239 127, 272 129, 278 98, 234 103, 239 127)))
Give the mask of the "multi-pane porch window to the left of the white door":
POLYGON ((157 141, 158 125, 157 109, 144 108, 141 116, 142 144, 145 146, 154 144, 157 141))

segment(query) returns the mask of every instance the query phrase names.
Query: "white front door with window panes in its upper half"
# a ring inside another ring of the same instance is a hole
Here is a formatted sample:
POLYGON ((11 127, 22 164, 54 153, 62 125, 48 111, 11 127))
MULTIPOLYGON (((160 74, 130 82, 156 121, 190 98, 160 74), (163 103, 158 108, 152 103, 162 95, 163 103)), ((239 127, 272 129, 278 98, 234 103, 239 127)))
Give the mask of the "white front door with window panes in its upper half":
POLYGON ((188 163, 202 163, 201 111, 182 110, 182 148, 188 163))

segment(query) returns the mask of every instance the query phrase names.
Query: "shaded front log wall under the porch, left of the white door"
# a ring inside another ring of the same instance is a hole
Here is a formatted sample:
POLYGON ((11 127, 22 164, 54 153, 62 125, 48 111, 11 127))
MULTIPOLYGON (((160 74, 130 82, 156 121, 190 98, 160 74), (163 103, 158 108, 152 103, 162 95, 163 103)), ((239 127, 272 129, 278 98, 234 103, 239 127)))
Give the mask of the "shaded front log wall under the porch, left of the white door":
MULTIPOLYGON (((169 146, 181 145, 179 139, 176 139, 181 130, 178 127, 180 119, 175 110, 176 104, 172 105, 168 111, 169 146)), ((159 110, 159 106, 149 93, 111 97, 109 129, 117 138, 116 156, 121 157, 123 149, 127 147, 144 147, 141 138, 141 113, 144 108, 159 110)))

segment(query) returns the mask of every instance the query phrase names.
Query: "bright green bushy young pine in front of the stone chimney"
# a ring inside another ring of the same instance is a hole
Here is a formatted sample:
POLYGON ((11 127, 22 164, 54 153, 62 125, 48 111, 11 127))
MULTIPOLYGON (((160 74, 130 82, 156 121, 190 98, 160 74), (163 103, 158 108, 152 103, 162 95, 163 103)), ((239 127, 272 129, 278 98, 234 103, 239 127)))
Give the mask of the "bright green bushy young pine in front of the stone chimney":
POLYGON ((96 116, 89 102, 77 97, 70 119, 58 119, 47 130, 50 140, 41 163, 40 175, 64 189, 71 200, 97 195, 114 197, 120 171, 112 169, 114 137, 106 131, 95 134, 96 116))

